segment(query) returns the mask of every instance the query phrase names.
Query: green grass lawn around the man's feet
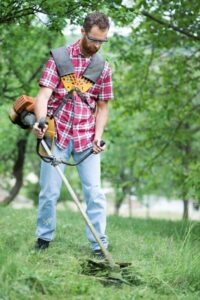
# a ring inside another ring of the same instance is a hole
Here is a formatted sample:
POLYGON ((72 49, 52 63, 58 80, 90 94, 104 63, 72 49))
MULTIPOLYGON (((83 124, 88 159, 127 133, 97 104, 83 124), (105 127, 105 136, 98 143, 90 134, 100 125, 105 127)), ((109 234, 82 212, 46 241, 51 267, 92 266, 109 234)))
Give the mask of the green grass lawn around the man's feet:
POLYGON ((81 216, 57 217, 54 241, 38 253, 36 210, 0 208, 0 299, 200 299, 200 223, 109 217, 111 254, 140 279, 117 287, 81 273, 91 257, 81 216))

